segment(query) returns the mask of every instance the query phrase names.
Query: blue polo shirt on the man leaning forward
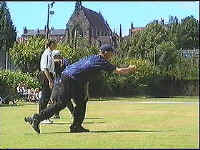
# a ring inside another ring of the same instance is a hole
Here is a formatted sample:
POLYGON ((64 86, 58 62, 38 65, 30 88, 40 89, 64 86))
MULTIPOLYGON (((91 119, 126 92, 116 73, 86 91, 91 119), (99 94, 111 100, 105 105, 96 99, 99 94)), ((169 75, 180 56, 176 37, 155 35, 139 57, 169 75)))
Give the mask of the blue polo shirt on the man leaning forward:
POLYGON ((101 71, 112 72, 115 69, 116 66, 101 55, 91 55, 67 66, 62 74, 74 80, 91 81, 95 80, 101 71))

